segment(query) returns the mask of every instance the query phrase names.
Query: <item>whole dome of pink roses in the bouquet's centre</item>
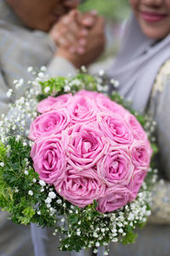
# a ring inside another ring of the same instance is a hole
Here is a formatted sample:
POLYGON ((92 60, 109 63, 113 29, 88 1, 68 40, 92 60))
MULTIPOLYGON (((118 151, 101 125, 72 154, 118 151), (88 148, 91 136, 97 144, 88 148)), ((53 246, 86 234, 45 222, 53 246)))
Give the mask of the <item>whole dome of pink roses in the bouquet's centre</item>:
POLYGON ((31 123, 35 171, 78 207, 113 212, 136 197, 152 150, 138 120, 100 93, 48 97, 31 123))

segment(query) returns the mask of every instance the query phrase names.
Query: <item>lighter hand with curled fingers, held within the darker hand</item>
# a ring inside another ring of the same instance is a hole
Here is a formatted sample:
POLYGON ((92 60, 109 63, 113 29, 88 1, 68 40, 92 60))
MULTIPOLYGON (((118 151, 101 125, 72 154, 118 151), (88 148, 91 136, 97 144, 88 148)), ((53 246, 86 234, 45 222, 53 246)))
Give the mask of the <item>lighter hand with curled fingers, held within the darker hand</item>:
POLYGON ((69 49, 71 53, 82 54, 85 51, 88 29, 94 26, 96 16, 95 10, 82 15, 77 9, 74 9, 52 27, 49 35, 59 48, 63 47, 69 49))

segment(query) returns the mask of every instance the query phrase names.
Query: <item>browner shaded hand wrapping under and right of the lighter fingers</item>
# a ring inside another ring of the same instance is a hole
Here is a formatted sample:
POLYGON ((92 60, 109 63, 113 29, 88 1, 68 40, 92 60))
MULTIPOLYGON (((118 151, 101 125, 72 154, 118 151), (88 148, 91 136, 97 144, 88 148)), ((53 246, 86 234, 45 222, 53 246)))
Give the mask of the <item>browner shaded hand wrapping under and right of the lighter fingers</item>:
MULTIPOLYGON (((65 35, 63 39, 66 40, 65 35)), ((94 26, 88 28, 85 43, 80 45, 79 41, 73 40, 73 44, 69 43, 69 48, 64 45, 59 46, 56 55, 60 55, 71 61, 71 63, 80 68, 82 65, 89 65, 95 61, 105 48, 105 21, 102 17, 96 17, 94 26), (71 47, 77 49, 71 52, 71 47)))

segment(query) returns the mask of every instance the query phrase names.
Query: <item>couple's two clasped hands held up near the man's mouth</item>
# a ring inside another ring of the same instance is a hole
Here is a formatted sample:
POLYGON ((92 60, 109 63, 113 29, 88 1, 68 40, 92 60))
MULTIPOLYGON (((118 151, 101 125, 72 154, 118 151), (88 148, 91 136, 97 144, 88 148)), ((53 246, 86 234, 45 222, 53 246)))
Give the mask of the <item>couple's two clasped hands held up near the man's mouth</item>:
POLYGON ((52 27, 49 35, 57 45, 56 55, 80 68, 95 61, 105 48, 105 21, 95 11, 81 14, 74 9, 52 27))

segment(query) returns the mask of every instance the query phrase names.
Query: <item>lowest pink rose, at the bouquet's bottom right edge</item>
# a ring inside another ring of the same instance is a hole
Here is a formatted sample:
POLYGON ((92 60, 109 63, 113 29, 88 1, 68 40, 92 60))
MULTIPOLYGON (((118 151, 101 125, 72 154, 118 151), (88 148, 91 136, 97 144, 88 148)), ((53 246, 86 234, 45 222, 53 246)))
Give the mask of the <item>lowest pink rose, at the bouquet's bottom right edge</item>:
POLYGON ((105 196, 98 200, 99 212, 113 212, 116 209, 124 207, 128 202, 133 201, 133 194, 124 186, 114 186, 107 189, 105 196))

